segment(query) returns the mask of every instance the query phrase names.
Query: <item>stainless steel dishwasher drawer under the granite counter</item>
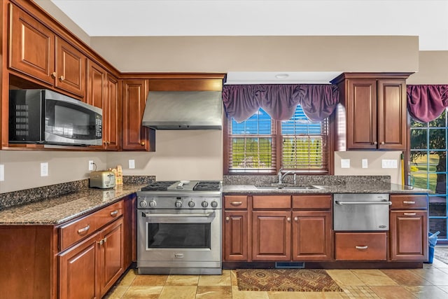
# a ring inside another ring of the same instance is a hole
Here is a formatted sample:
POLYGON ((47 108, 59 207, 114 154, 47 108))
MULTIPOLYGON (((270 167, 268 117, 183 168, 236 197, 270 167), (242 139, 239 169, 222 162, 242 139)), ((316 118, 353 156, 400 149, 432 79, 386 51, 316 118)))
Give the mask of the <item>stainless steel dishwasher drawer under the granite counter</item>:
POLYGON ((388 230, 390 205, 388 194, 335 194, 333 230, 388 230))

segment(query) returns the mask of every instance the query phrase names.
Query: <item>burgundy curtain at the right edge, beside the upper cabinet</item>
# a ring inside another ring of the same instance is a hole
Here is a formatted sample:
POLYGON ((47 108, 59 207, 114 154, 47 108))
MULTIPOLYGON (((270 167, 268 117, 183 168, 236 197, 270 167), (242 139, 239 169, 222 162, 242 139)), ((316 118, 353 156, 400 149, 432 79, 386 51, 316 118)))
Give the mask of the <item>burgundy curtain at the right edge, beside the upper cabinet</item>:
POLYGON ((448 106, 448 85, 407 85, 407 109, 415 120, 428 123, 448 106))

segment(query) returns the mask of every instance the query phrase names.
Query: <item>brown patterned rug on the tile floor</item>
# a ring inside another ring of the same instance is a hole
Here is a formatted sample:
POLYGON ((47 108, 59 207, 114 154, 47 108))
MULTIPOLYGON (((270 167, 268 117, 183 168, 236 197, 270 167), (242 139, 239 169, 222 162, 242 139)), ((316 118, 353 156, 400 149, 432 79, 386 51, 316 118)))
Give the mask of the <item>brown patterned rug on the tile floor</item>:
POLYGON ((239 291, 342 292, 321 269, 238 269, 239 291))

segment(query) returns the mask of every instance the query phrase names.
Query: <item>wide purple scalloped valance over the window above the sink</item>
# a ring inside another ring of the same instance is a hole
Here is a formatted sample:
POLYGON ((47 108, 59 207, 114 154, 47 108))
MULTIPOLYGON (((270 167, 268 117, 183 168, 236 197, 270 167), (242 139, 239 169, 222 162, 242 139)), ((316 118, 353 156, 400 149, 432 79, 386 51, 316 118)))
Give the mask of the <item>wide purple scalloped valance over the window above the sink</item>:
POLYGON ((337 85, 253 84, 224 85, 225 112, 238 123, 262 108, 274 120, 289 120, 300 104, 309 120, 328 118, 339 102, 337 85))

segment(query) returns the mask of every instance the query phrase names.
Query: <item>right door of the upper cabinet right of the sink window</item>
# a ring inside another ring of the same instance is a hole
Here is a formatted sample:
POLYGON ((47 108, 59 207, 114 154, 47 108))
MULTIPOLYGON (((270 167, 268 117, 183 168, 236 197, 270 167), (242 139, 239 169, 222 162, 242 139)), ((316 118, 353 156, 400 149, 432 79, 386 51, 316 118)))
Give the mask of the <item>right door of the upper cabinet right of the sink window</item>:
POLYGON ((407 142, 406 82, 378 81, 378 148, 405 151, 407 142))

